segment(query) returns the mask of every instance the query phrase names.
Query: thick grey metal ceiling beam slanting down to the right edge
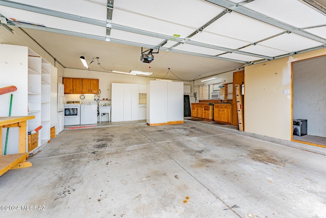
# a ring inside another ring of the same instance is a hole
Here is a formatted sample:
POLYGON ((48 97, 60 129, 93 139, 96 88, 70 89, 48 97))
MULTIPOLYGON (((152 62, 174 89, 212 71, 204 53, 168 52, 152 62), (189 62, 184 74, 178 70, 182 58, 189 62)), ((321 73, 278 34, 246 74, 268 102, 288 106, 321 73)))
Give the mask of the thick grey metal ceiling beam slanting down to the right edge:
POLYGON ((315 41, 318 41, 318 42, 321 42, 321 43, 324 43, 324 44, 326 43, 326 39, 324 39, 322 37, 318 37, 318 36, 313 35, 311 33, 305 32, 305 31, 303 31, 303 30, 301 30, 299 28, 293 27, 291 25, 287 25, 286 23, 283 23, 283 22, 278 21, 276 19, 273 19, 271 17, 265 16, 265 15, 260 14, 258 12, 252 11, 252 10, 250 10, 248 8, 245 8, 245 7, 243 7, 243 6, 239 5, 239 4, 235 4, 235 3, 230 2, 228 0, 205 0, 205 1, 213 3, 213 4, 221 6, 221 7, 224 7, 224 8, 227 8, 227 9, 230 9, 230 10, 238 12, 240 14, 249 16, 251 18, 260 20, 262 22, 268 23, 268 24, 273 25, 275 27, 279 27, 281 29, 290 31, 292 33, 295 33, 295 34, 298 34, 298 35, 313 39, 315 41))

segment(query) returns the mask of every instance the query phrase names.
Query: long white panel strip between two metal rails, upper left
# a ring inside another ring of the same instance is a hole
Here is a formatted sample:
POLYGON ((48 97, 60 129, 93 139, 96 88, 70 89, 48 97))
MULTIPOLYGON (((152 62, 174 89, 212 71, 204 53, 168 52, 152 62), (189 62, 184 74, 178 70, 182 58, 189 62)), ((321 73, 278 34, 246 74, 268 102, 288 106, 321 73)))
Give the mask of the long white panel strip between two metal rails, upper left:
POLYGON ((106 28, 96 25, 90 25, 88 23, 63 19, 59 17, 48 16, 44 14, 24 11, 15 8, 9 8, 0 6, 0 13, 2 13, 8 19, 14 18, 29 23, 38 23, 45 27, 55 28, 59 30, 67 30, 77 33, 85 33, 95 36, 106 36, 106 28))

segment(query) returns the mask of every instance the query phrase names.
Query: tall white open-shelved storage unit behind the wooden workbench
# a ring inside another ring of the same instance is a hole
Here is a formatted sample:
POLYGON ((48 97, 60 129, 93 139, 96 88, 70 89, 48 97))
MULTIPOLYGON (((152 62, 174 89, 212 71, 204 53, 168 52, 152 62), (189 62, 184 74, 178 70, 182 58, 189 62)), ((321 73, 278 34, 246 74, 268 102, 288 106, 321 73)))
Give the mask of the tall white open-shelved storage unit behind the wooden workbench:
MULTIPOLYGON (((38 146, 42 146, 50 140, 51 64, 25 46, 0 44, 0 51, 0 87, 17 87, 17 91, 12 92, 11 116, 35 115, 34 119, 28 120, 28 131, 43 127, 38 141, 38 146)), ((10 93, 0 95, 0 101, 0 116, 8 116, 10 93)), ((17 136, 18 128, 10 128, 7 154, 18 153, 17 136)))

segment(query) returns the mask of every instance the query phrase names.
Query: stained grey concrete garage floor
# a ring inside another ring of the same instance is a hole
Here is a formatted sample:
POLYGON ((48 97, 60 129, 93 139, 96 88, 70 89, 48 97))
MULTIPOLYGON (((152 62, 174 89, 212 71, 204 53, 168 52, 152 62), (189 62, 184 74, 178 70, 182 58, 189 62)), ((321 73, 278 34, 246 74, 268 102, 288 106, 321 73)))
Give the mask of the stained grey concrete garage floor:
POLYGON ((30 161, 0 217, 326 217, 324 154, 191 120, 66 130, 30 161))

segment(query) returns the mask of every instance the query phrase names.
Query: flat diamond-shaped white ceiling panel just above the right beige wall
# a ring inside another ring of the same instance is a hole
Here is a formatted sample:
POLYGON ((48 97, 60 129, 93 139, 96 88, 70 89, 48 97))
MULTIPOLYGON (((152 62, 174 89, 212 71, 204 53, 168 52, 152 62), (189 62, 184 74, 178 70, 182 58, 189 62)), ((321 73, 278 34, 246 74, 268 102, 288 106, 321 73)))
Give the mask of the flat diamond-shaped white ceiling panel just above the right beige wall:
POLYGON ((288 52, 296 52, 304 49, 309 49, 310 47, 322 45, 320 42, 294 33, 285 33, 280 36, 260 42, 259 44, 288 52))

